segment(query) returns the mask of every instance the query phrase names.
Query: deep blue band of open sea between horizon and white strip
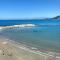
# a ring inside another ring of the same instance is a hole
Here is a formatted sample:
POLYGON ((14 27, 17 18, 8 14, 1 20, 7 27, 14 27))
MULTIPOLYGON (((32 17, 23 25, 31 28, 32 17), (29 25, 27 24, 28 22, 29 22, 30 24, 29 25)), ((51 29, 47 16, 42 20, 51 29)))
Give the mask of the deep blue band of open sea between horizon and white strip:
POLYGON ((0 26, 10 26, 19 24, 37 24, 37 25, 60 25, 60 20, 0 20, 0 26))

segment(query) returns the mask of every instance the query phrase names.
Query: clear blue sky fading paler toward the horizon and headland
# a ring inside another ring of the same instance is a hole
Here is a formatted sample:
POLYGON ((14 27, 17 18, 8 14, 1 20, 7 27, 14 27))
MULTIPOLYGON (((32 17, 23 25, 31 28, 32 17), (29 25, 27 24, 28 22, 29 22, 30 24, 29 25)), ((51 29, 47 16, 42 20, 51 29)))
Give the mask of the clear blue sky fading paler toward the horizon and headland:
POLYGON ((0 0, 0 19, 47 18, 60 15, 60 0, 0 0))

